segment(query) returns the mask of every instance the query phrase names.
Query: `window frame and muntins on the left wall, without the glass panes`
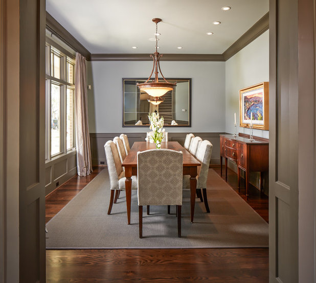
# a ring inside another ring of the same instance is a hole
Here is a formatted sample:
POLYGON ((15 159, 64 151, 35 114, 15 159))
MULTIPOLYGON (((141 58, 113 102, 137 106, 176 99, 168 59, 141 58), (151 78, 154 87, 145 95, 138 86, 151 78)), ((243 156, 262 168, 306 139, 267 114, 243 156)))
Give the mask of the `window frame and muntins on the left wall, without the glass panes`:
MULTIPOLYGON (((46 117, 45 117, 45 160, 46 163, 49 161, 56 159, 60 156, 63 156, 67 153, 76 150, 76 129, 75 129, 75 101, 73 100, 73 147, 67 149, 67 88, 72 89, 75 94, 75 57, 69 56, 69 54, 65 54, 62 51, 63 48, 58 44, 46 42, 46 117), (52 76, 52 66, 51 66, 51 54, 58 55, 60 59, 60 78, 56 78, 52 76), (68 70, 67 70, 67 62, 74 66, 73 68, 73 84, 68 82, 68 70), (59 121, 59 129, 60 129, 60 151, 58 153, 51 153, 51 89, 52 84, 60 86, 60 121, 59 121)), ((74 97, 73 97, 74 99, 74 97)))

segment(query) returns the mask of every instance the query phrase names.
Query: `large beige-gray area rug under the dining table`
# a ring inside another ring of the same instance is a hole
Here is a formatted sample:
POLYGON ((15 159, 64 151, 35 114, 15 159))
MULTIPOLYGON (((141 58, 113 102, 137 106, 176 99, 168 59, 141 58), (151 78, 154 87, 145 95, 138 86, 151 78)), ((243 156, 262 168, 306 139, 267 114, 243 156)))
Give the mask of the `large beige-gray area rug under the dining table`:
POLYGON ((245 248, 268 247, 268 224, 214 170, 209 170, 211 213, 196 198, 190 223, 190 194, 184 191, 182 238, 177 237, 175 207, 144 208, 139 238, 137 192, 132 192, 131 224, 127 225, 125 192, 107 215, 109 179, 103 170, 47 224, 47 249, 118 248, 245 248))

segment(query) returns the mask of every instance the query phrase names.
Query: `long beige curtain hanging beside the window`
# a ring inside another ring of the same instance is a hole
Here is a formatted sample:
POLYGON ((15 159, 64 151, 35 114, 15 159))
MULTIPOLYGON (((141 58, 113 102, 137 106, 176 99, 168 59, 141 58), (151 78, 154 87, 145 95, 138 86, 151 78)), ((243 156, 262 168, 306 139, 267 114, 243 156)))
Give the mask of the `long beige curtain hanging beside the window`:
POLYGON ((79 176, 91 174, 92 161, 90 149, 90 136, 88 125, 87 106, 87 82, 85 58, 76 53, 76 95, 75 95, 75 115, 76 115, 76 149, 77 149, 77 172, 79 176))

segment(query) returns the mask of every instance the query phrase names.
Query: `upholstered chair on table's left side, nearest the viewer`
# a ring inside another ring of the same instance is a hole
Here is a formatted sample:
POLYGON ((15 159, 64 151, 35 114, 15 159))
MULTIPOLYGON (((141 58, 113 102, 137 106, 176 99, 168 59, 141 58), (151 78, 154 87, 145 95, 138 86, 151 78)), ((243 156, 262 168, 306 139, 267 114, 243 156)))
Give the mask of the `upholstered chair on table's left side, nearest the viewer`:
MULTIPOLYGON (((125 190, 125 172, 123 171, 118 148, 114 141, 109 140, 104 145, 107 171, 110 179, 110 203, 108 205, 107 214, 111 214, 112 205, 114 202, 114 192, 116 198, 120 190, 125 190)), ((137 190, 137 176, 132 176, 132 190, 137 190)))

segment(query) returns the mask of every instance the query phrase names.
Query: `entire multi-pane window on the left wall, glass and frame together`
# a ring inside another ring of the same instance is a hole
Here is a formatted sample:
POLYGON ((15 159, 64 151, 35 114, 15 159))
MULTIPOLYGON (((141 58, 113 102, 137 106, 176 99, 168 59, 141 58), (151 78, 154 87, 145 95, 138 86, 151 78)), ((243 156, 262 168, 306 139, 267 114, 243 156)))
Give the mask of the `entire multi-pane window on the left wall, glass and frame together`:
POLYGON ((75 61, 46 44, 46 160, 75 148, 75 61))

